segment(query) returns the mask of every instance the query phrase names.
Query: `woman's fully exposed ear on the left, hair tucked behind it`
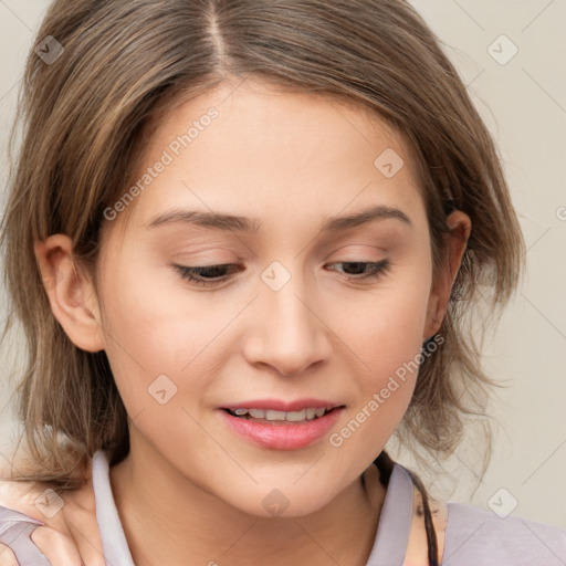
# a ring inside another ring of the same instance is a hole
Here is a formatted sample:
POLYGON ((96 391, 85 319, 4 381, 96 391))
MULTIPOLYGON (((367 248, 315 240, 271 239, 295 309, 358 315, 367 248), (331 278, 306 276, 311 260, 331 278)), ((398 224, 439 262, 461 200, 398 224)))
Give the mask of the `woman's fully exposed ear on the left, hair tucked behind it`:
POLYGON ((53 315, 71 342, 86 352, 104 349, 96 293, 76 270, 71 239, 51 235, 35 241, 34 251, 53 315))

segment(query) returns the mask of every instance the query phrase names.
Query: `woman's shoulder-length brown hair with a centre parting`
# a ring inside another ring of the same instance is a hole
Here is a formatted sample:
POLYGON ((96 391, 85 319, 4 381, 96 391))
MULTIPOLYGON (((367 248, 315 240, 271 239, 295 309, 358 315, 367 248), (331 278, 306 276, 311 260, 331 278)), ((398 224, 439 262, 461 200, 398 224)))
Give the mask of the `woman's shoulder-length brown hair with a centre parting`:
MULTIPOLYGON (((32 465, 12 479, 74 489, 95 451, 112 465, 129 450, 108 359, 74 346, 53 316, 34 241, 67 234, 77 272, 96 273, 103 212, 134 181, 157 117, 229 76, 350 102, 395 128, 417 165, 433 277, 447 214, 470 217, 441 345, 420 363, 395 432, 415 453, 452 454, 465 417, 485 416, 489 390, 500 386, 482 368, 474 312, 483 301, 482 325, 499 318, 524 241, 495 144, 420 14, 405 0, 55 0, 34 44, 48 35, 64 51, 51 64, 28 56, 0 232, 12 303, 2 340, 17 318, 28 346, 15 394, 32 465)), ((385 451, 376 459, 384 478, 391 462, 385 451)), ((432 560, 431 528, 428 513, 432 560)))

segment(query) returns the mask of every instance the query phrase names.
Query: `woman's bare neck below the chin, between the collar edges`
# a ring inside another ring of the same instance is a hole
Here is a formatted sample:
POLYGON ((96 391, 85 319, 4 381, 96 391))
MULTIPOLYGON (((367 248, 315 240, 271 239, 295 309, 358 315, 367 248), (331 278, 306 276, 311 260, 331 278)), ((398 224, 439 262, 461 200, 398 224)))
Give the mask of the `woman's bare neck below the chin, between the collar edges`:
POLYGON ((315 513, 264 518, 243 513, 190 482, 156 452, 111 468, 111 484, 137 566, 191 564, 365 566, 385 499, 369 467, 315 513))

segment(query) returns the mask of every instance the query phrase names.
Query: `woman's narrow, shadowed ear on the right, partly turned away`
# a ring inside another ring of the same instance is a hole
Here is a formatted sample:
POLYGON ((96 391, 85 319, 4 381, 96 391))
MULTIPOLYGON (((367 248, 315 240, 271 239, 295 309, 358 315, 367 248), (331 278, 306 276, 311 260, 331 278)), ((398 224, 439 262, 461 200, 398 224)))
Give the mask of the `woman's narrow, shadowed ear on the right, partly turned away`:
POLYGON ((470 217, 461 210, 454 210, 447 219, 450 233, 447 234, 448 242, 446 247, 446 256, 441 268, 441 272, 433 283, 428 307, 427 322, 424 325, 426 340, 437 334, 442 325, 442 321, 448 310, 450 293, 454 284, 458 270, 462 263, 468 240, 472 230, 472 221, 470 217))

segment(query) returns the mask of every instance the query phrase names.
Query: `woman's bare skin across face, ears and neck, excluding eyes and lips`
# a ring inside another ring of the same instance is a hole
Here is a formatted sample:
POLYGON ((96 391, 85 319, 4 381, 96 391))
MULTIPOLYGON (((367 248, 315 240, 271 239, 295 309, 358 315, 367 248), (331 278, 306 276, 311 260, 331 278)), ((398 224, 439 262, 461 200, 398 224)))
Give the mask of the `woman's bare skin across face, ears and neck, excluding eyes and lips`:
POLYGON ((346 407, 331 432, 343 429, 438 332, 471 222, 449 217, 433 281, 415 161, 392 129, 354 105, 235 85, 163 120, 139 176, 210 106, 219 111, 130 205, 127 223, 124 212, 106 222, 96 286, 75 271, 67 235, 38 242, 36 258, 45 280, 59 272, 48 286, 54 316, 77 347, 106 352, 132 419, 130 453, 111 482, 136 565, 248 566, 269 556, 273 566, 364 566, 385 497, 368 467, 401 421, 416 373, 338 448, 327 436, 301 450, 261 448, 218 408, 316 397, 346 407), (391 178, 374 165, 387 148, 405 161, 391 178), (402 210, 411 226, 389 218, 321 233, 325 219, 375 205, 402 210), (146 228, 174 207, 262 226, 146 228), (348 280, 363 272, 343 263, 381 260, 390 269, 365 282, 348 280), (261 279, 274 261, 291 276, 280 291, 261 279), (242 269, 206 287, 172 263, 242 269), (165 405, 148 394, 159 375, 177 387, 165 405), (276 517, 262 504, 273 489, 289 503, 276 517))

